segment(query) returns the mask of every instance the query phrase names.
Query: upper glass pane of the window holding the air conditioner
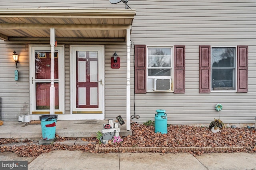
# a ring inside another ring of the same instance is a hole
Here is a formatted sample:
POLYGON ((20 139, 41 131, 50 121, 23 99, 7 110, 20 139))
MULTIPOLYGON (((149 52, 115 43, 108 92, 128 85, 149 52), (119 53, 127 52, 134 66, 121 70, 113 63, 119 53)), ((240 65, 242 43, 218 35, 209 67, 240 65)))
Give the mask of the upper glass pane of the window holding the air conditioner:
POLYGON ((148 48, 148 67, 170 67, 171 48, 148 48))

